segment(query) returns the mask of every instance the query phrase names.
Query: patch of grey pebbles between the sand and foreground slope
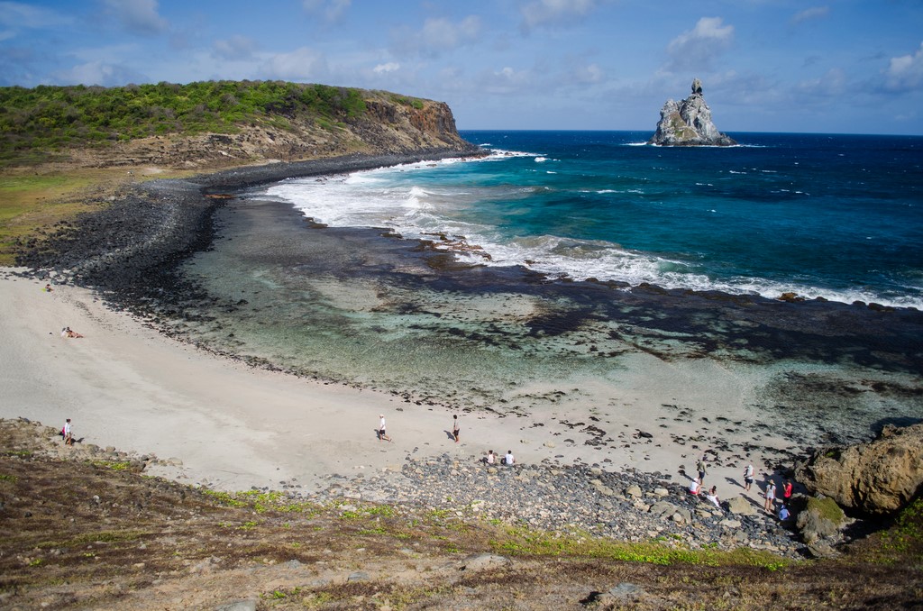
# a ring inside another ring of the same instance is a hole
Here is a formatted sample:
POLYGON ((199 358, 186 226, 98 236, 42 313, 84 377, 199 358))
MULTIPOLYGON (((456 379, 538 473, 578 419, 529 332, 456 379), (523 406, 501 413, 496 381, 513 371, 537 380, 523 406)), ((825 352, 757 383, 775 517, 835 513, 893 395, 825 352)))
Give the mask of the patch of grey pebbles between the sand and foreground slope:
MULTIPOLYGON (((301 497, 319 503, 376 497, 406 508, 448 510, 459 518, 480 516, 557 533, 593 533, 619 541, 679 539, 684 545, 719 549, 758 547, 785 557, 802 557, 797 534, 764 514, 732 515, 683 485, 633 468, 606 472, 598 467, 515 465, 487 467, 443 454, 409 457, 399 473, 338 480, 301 497), (616 491, 624 491, 624 496, 616 491), (641 497, 649 497, 648 503, 641 497)), ((341 508, 345 509, 345 507, 341 508)))

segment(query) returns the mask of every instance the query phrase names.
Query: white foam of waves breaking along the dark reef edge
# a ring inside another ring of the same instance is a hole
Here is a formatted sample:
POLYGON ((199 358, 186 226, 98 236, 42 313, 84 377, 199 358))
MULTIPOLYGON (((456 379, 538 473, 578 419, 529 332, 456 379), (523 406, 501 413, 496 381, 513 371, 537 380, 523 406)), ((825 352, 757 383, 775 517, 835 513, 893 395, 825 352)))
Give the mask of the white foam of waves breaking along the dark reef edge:
MULTIPOLYGON (((533 156, 513 151, 495 155, 477 162, 533 156)), ((627 282, 632 286, 648 282, 667 289, 759 294, 769 298, 794 292, 809 299, 823 297, 845 303, 877 302, 885 306, 923 309, 923 302, 913 298, 889 300, 861 289, 822 289, 743 276, 716 279, 699 272, 692 262, 635 252, 611 242, 554 235, 510 237, 496 227, 473 222, 471 218, 476 217, 466 217, 465 210, 486 199, 511 202, 531 198, 535 193, 547 191, 548 187, 504 184, 460 188, 439 186, 438 181, 426 182, 426 173, 438 169, 441 164, 414 163, 323 180, 288 180, 270 186, 266 194, 289 201, 306 216, 331 226, 385 227, 409 239, 430 239, 434 233, 447 234, 469 245, 480 246, 481 252, 490 257, 485 260, 482 254, 460 251, 457 255, 463 260, 482 265, 523 266, 550 278, 568 277, 576 281, 595 278, 627 282)), ((596 192, 617 193, 614 189, 596 192)), ((636 188, 628 192, 643 193, 636 188)))

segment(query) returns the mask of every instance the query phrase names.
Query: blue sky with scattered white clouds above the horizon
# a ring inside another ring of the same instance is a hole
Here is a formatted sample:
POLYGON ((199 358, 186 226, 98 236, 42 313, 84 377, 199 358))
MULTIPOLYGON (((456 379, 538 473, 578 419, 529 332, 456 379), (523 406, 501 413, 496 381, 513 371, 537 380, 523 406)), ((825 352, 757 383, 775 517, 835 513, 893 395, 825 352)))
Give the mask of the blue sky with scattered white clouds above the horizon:
POLYGON ((923 134, 920 0, 0 1, 0 85, 283 79, 448 102, 460 129, 923 134))

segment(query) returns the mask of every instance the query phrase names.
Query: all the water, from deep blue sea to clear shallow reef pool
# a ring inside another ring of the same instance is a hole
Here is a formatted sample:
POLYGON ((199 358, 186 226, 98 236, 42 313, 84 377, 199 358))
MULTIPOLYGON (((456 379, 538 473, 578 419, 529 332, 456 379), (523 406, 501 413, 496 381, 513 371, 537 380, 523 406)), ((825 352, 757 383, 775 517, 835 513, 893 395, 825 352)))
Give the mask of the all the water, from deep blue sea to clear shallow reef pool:
POLYGON ((429 409, 708 406, 801 447, 923 418, 923 138, 462 136, 490 154, 239 194, 175 330, 429 409))

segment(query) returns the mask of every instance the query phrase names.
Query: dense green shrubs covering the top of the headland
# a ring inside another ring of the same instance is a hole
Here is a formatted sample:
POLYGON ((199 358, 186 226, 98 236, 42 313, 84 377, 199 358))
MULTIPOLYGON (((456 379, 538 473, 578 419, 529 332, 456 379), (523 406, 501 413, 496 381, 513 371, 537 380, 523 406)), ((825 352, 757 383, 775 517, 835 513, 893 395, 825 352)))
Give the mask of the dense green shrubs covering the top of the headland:
MULTIPOLYGON (((238 125, 290 129, 290 119, 342 125, 366 113, 363 90, 283 81, 208 81, 102 88, 0 88, 0 166, 37 151, 167 134, 230 134, 238 125)), ((419 102, 419 101, 417 101, 419 102)), ((422 102, 420 102, 422 104, 422 102)))

